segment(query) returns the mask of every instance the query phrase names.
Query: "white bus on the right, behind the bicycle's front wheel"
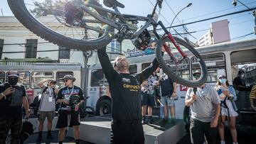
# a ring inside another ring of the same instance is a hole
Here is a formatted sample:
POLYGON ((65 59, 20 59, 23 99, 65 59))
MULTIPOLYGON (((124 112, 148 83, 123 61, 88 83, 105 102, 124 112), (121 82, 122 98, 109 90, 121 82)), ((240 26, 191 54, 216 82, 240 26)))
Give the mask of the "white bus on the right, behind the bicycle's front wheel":
MULTIPOLYGON (((247 65, 251 67, 246 72, 247 84, 256 82, 256 39, 243 40, 238 42, 220 43, 196 48, 205 60, 208 68, 207 83, 215 87, 219 74, 226 74, 228 82, 233 85, 233 79, 237 76, 238 70, 247 65), (253 65, 255 67, 253 68, 253 65)), ((167 56, 167 55, 165 55, 167 56)), ((147 67, 155 55, 144 55, 140 57, 130 57, 130 72, 141 72, 147 67)), ((193 71, 198 69, 198 62, 195 57, 188 55, 186 64, 180 67, 178 74, 185 79, 192 79, 193 71)), ((176 100, 176 118, 183 118, 184 98, 187 87, 178 84, 178 100, 176 100)), ((108 89, 107 79, 100 64, 90 65, 87 72, 87 106, 92 106, 99 115, 111 112, 111 95, 108 89)))

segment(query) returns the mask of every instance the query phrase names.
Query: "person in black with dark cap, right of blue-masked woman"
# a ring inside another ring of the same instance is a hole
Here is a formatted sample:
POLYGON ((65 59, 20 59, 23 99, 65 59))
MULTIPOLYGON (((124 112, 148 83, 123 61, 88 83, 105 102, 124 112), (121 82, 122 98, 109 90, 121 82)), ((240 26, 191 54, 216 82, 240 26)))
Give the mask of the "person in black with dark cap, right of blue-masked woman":
POLYGON ((247 87, 245 83, 245 71, 239 70, 238 77, 234 79, 234 87, 238 91, 238 100, 236 101, 238 109, 250 109, 250 90, 252 87, 247 87))

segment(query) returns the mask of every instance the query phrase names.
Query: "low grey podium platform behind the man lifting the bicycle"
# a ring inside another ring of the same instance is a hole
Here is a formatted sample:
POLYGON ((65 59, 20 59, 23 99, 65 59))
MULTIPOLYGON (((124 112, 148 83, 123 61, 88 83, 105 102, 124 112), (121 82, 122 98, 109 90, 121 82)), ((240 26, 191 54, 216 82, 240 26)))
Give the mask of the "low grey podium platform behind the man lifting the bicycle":
MULTIPOLYGON (((83 118, 80 122, 80 139, 96 144, 110 143, 111 121, 110 115, 83 118)), ((170 120, 164 122, 160 118, 154 118, 154 121, 156 124, 143 125, 146 144, 174 144, 186 134, 181 119, 176 119, 176 123, 170 120)), ((73 137, 72 128, 68 128, 68 136, 73 137)))

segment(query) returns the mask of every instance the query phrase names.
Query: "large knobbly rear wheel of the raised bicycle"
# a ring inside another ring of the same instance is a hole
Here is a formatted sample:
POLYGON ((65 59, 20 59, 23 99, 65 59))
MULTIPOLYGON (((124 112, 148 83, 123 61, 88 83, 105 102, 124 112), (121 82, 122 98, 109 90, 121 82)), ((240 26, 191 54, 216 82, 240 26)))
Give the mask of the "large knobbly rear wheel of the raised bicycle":
MULTIPOLYGON (((48 40, 50 43, 65 48, 85 51, 104 47, 111 42, 114 36, 109 33, 114 31, 114 28, 106 26, 105 30, 100 29, 102 23, 86 14, 82 14, 82 21, 66 23, 66 11, 63 6, 55 9, 54 13, 50 13, 54 14, 54 16, 36 16, 31 12, 32 9, 35 10, 36 8, 35 2, 40 4, 42 0, 8 0, 11 11, 18 21, 28 28, 28 30, 48 40)), ((90 0, 90 2, 100 6, 97 1, 90 0)), ((101 16, 106 15, 106 13, 99 11, 95 12, 98 12, 97 14, 101 16)), ((43 15, 45 14, 47 13, 43 13, 43 15)))

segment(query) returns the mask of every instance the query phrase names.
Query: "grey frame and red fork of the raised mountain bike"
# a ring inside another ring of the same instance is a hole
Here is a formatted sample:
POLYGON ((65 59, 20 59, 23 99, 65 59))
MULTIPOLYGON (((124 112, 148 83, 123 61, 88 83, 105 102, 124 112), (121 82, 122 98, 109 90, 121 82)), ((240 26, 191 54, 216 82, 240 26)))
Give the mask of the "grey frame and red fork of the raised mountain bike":
MULTIPOLYGON (((180 52, 180 54, 182 55, 183 59, 186 58, 186 54, 181 50, 180 46, 176 44, 173 36, 171 35, 171 33, 169 31, 167 31, 166 27, 164 26, 164 24, 161 22, 161 21, 158 21, 156 22, 153 18, 153 14, 155 13, 156 11, 156 6, 157 6, 158 2, 156 2, 156 5, 154 6, 154 10, 152 12, 152 14, 148 15, 147 17, 144 17, 144 16, 136 16, 136 15, 125 15, 125 14, 121 14, 119 12, 119 10, 117 9, 117 6, 113 6, 112 9, 114 9, 114 11, 111 11, 109 9, 105 9, 105 8, 102 8, 101 6, 95 6, 93 4, 85 4, 85 6, 81 6, 82 10, 89 13, 91 16, 93 16, 94 18, 96 18, 98 21, 102 22, 102 23, 106 23, 107 25, 109 26, 112 26, 114 28, 116 28, 117 30, 121 30, 122 29, 122 26, 127 26, 127 22, 126 21, 146 21, 146 23, 144 23, 144 25, 139 28, 135 33, 132 34, 132 37, 129 38, 129 39, 133 39, 133 38, 137 38, 137 36, 139 34, 141 34, 146 28, 148 28, 150 25, 152 25, 154 27, 154 30, 153 30, 153 33, 154 35, 156 35, 156 38, 157 39, 160 39, 160 36, 159 34, 156 32, 156 27, 157 26, 161 26, 161 28, 164 30, 164 35, 167 35, 168 38, 171 40, 171 43, 174 44, 175 48, 178 50, 178 52, 180 52), (121 26, 117 25, 117 22, 113 21, 113 20, 110 20, 110 19, 105 19, 105 18, 102 18, 101 16, 99 16, 98 14, 90 11, 90 9, 87 8, 87 6, 90 6, 92 7, 93 9, 96 9, 97 11, 105 11, 107 13, 111 13, 112 16, 115 16, 117 18, 119 18, 119 24, 121 24, 121 26), (131 19, 129 19, 131 18, 131 19), (135 18, 132 19, 132 18, 135 18), (121 28, 120 28, 121 27, 121 28)), ((96 23, 97 21, 95 21, 96 23)), ((128 26, 128 28, 130 28, 128 26)), ((166 52, 169 54, 170 57, 173 57, 174 55, 171 53, 171 51, 169 50, 169 47, 164 44, 164 49, 166 50, 166 52)))

